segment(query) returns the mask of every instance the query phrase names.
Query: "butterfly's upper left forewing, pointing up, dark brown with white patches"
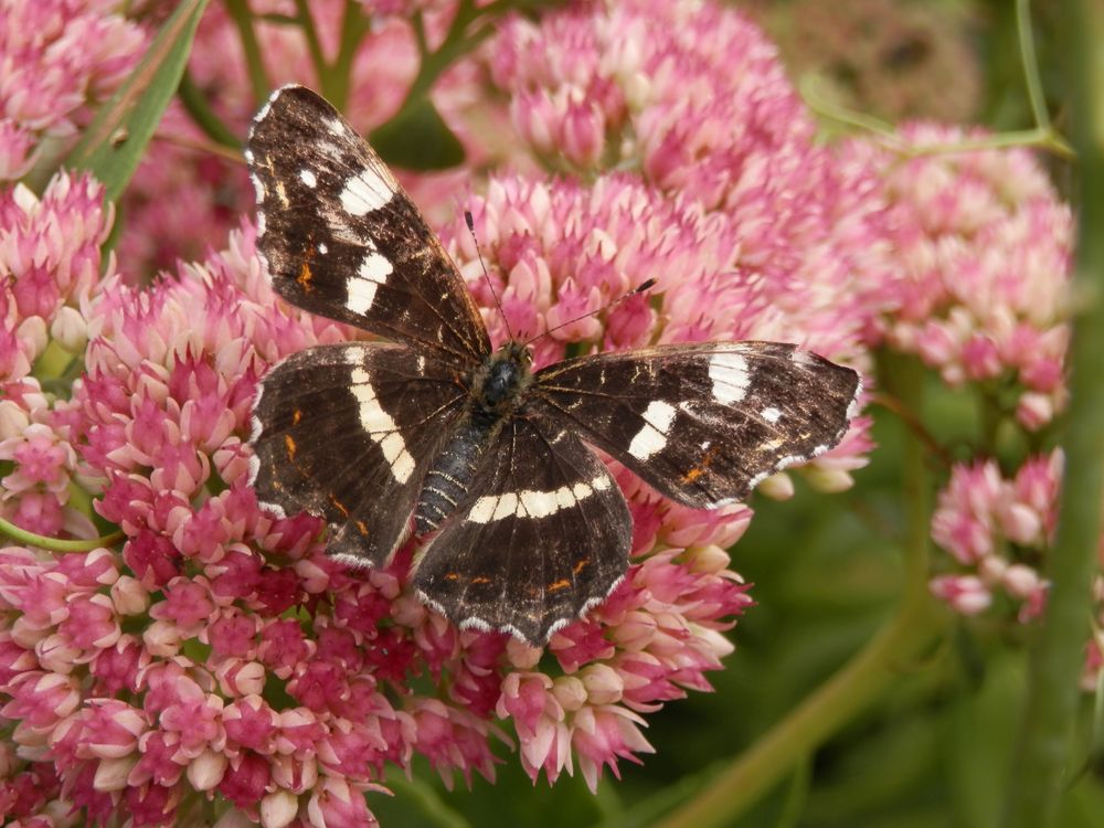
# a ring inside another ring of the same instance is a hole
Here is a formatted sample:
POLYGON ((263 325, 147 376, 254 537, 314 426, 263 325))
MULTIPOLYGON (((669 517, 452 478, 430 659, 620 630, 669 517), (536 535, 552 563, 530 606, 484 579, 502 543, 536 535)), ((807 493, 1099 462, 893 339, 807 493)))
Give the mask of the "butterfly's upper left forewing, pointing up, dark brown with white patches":
POLYGON ((257 250, 296 307, 439 361, 490 351, 464 280, 380 157, 323 98, 276 91, 245 158, 257 191, 257 250))

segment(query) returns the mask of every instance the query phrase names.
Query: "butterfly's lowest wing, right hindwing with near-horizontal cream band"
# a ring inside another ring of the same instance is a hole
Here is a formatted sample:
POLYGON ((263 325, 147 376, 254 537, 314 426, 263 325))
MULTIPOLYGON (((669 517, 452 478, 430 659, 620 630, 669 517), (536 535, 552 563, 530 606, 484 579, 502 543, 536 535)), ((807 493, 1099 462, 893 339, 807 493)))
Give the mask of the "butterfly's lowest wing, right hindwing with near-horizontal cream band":
POLYGON ((625 574, 628 507, 573 434, 532 417, 508 422, 470 491, 413 578, 422 601, 461 627, 541 646, 625 574))

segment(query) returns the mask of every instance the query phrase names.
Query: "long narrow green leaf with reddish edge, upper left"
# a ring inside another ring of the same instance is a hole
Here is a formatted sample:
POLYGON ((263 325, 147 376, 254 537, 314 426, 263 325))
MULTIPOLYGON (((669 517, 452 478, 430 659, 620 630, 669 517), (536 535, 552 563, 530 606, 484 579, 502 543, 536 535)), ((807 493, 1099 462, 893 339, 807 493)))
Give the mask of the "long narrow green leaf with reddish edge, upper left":
POLYGON ((63 166, 88 170, 117 201, 177 92, 208 0, 182 0, 126 83, 96 113, 63 166))

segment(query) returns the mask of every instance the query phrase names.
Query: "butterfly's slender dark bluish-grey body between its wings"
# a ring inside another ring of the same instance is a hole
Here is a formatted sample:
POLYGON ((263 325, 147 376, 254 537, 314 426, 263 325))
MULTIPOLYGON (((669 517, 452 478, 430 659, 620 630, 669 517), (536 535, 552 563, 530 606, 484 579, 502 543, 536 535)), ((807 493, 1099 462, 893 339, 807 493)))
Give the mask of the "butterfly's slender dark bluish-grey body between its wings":
POLYGON ((459 427, 426 475, 414 510, 418 534, 432 532, 456 510, 487 447, 524 403, 532 382, 529 349, 516 341, 488 357, 469 378, 470 393, 459 427))

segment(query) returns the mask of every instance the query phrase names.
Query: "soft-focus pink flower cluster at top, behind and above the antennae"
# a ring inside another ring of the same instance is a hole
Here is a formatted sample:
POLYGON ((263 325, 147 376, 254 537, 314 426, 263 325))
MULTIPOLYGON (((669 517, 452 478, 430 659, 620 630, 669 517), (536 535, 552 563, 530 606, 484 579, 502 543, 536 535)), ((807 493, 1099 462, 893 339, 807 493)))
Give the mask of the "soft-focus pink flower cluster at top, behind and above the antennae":
MULTIPOLYGON (((816 126, 777 53, 712 3, 581 4, 514 21, 488 47, 520 140, 553 169, 630 171, 726 217, 724 265, 764 283, 795 328, 854 348, 850 286, 881 242, 869 164, 815 144, 816 126)), ((666 274, 681 282, 681 274, 666 274)))

